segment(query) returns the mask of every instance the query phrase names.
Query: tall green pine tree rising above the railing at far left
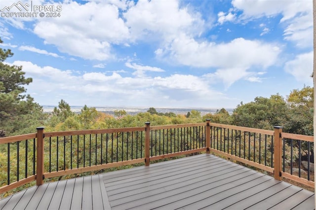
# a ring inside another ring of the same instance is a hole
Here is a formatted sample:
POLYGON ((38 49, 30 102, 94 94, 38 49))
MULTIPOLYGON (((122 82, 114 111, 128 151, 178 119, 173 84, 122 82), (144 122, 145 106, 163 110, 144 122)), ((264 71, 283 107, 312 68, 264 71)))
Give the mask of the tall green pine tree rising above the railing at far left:
POLYGON ((0 130, 2 133, 5 130, 6 135, 35 129, 44 120, 42 107, 29 94, 25 94, 24 86, 30 84, 32 78, 25 77, 22 66, 3 63, 12 56, 10 49, 0 48, 0 130))

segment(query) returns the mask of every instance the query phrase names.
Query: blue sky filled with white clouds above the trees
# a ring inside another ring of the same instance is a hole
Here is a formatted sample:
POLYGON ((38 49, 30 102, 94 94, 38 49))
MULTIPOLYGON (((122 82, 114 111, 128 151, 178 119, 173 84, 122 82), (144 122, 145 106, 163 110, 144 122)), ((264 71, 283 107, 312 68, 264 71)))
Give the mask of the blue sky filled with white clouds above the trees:
POLYGON ((313 86, 312 0, 1 0, 0 15, 40 105, 235 108, 313 86))

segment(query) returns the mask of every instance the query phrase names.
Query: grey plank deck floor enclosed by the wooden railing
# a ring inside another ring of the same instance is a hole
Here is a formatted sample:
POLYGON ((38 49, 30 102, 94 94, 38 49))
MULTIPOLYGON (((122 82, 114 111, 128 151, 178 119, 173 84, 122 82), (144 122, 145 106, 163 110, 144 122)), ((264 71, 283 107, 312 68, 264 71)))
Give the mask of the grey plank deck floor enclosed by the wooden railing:
POLYGON ((34 186, 0 201, 12 209, 315 209, 315 194, 214 155, 195 155, 34 186))

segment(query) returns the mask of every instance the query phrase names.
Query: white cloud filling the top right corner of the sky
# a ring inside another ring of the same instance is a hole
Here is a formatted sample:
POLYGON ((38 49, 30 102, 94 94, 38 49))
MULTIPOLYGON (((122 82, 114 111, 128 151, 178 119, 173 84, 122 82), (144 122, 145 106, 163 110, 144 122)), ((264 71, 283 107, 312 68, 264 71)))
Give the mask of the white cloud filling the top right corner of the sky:
POLYGON ((242 10, 242 15, 239 17, 241 20, 282 14, 280 23, 284 23, 286 26, 284 39, 293 41, 298 47, 312 46, 312 0, 276 0, 273 1, 273 6, 269 0, 233 0, 232 4, 235 9, 242 10))

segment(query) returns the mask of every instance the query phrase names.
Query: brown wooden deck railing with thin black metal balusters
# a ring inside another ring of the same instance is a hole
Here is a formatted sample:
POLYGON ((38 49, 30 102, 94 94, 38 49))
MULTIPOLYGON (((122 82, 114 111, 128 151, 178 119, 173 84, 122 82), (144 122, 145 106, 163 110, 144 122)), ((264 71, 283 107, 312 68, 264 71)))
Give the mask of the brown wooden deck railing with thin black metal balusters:
POLYGON ((270 131, 209 120, 167 126, 150 126, 148 122, 144 127, 62 132, 45 132, 39 127, 34 134, 0 139, 0 167, 6 179, 0 193, 35 180, 40 185, 46 178, 136 163, 148 166, 150 161, 197 152, 220 154, 273 173, 278 180, 286 177, 314 187, 313 175, 305 178, 293 175, 292 170, 285 172, 289 160, 292 165, 295 160, 293 143, 292 156, 284 155, 288 153, 285 141, 289 139, 308 141, 309 146, 313 142, 313 137, 282 133, 281 127, 270 131))

